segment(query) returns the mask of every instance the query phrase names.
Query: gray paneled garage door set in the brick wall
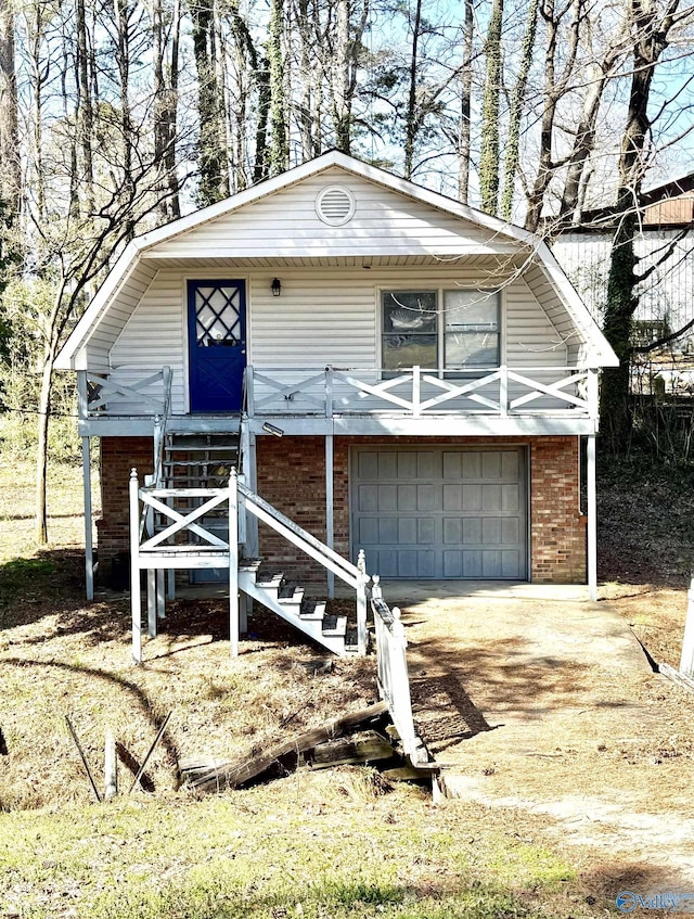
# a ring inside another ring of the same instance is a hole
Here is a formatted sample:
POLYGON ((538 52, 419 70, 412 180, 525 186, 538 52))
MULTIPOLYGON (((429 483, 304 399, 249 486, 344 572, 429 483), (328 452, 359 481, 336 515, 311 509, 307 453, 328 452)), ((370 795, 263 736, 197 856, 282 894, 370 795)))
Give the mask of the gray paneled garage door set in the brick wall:
POLYGON ((352 456, 355 557, 382 577, 527 576, 522 448, 388 447, 352 456))

